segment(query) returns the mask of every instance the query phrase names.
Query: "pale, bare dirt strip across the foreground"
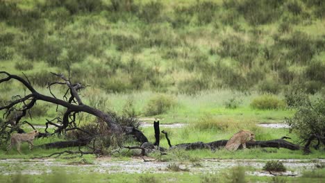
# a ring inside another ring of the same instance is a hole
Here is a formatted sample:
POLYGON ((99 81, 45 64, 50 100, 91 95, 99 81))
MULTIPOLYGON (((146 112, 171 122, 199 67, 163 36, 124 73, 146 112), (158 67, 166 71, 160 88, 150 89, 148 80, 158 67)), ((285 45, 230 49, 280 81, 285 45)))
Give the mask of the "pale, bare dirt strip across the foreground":
MULTIPOLYGON (((283 162, 290 171, 282 175, 301 175, 301 171, 315 168, 317 164, 325 164, 325 159, 278 159, 283 162)), ((219 173, 224 168, 234 166, 253 167, 256 171, 248 171, 249 175, 270 176, 271 174, 260 171, 267 159, 202 159, 195 166, 191 163, 178 162, 179 168, 189 169, 190 173, 219 173)), ((67 171, 78 173, 167 173, 167 168, 172 162, 144 162, 142 159, 131 159, 128 161, 112 161, 110 158, 99 158, 94 164, 71 164, 67 162, 56 162, 55 159, 0 159, 0 174, 28 174, 39 175, 51 173, 52 168, 63 167, 67 171), (70 169, 69 169, 70 168, 70 169)))

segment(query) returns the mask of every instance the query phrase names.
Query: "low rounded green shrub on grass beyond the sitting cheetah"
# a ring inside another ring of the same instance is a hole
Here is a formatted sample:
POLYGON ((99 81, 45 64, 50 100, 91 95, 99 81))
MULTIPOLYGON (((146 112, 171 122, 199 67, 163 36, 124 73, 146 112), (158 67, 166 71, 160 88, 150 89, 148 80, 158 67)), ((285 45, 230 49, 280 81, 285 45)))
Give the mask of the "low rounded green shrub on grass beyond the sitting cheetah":
POLYGON ((266 94, 254 98, 251 102, 251 107, 258 110, 274 110, 284 108, 285 103, 276 98, 276 96, 266 94))

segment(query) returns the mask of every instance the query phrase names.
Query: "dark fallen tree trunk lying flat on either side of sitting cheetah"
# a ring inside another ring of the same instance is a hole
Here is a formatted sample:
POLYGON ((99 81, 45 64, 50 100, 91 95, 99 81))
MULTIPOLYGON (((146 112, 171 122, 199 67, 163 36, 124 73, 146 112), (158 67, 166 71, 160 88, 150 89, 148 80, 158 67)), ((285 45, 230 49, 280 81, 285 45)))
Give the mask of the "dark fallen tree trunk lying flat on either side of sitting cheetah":
MULTIPOLYGON (((203 143, 201 141, 194 142, 194 143, 181 143, 173 148, 184 148, 185 150, 194 150, 194 149, 203 149, 203 148, 222 148, 226 146, 228 140, 219 140, 219 141, 212 141, 209 143, 203 143)), ((274 139, 269 141, 255 141, 255 142, 247 142, 247 148, 287 148, 290 150, 299 150, 300 146, 289 141, 285 141, 283 139, 274 139)), ((242 146, 240 146, 242 148, 242 146)))

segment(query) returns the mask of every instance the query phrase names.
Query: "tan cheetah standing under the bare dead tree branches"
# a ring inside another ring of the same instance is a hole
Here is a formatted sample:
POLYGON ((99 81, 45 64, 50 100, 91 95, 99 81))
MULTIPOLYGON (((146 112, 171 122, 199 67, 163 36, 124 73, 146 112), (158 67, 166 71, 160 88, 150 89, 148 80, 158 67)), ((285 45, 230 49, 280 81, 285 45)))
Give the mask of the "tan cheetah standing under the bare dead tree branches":
POLYGON ((33 140, 35 139, 36 136, 38 136, 38 130, 33 130, 32 132, 24 133, 24 134, 19 134, 19 133, 12 134, 7 151, 10 150, 12 146, 16 144, 18 153, 22 154, 20 152, 20 143, 24 141, 29 143, 29 149, 31 150, 32 146, 34 146, 33 140))

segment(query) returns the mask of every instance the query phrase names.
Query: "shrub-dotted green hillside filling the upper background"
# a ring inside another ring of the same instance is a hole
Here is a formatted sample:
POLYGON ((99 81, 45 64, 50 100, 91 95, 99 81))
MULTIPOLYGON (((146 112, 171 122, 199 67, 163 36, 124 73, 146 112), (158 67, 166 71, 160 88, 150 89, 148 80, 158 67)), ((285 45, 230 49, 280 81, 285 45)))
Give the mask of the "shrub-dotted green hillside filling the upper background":
MULTIPOLYGON (((0 1, 0 69, 44 87, 277 94, 325 83, 325 1, 0 1)), ((7 87, 10 87, 9 85, 7 87)))

